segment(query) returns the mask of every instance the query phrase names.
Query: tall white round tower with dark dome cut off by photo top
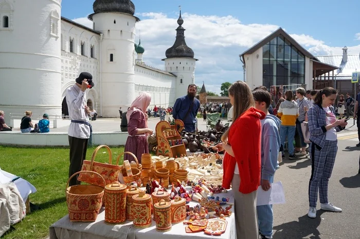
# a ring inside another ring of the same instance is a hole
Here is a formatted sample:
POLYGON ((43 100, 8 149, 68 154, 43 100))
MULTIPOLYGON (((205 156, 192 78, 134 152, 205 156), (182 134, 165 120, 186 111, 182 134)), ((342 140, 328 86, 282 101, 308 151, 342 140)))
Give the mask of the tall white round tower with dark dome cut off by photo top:
POLYGON ((135 6, 130 0, 96 0, 88 18, 103 33, 102 116, 117 117, 135 98, 135 6))

